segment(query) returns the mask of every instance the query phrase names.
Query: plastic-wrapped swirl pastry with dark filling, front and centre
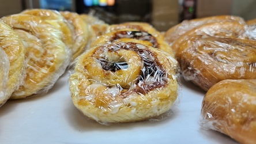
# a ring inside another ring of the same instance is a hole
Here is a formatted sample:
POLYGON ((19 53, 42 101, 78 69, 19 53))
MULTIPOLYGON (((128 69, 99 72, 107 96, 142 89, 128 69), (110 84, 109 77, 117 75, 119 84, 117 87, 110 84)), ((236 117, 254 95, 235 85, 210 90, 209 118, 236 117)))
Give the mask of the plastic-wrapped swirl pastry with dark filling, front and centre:
POLYGON ((170 110, 178 63, 166 52, 113 41, 82 54, 70 75, 74 105, 101 123, 134 122, 170 110))

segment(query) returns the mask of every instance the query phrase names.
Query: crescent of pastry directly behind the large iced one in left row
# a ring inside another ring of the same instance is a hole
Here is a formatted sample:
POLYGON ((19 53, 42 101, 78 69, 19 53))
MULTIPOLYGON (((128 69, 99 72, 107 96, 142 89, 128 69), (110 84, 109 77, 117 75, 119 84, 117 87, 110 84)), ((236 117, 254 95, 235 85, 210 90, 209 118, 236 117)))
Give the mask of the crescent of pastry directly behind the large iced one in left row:
POLYGON ((74 28, 74 43, 71 50, 73 52, 72 60, 76 59, 82 52, 84 52, 86 44, 89 40, 89 27, 77 13, 60 12, 67 21, 73 25, 74 28))

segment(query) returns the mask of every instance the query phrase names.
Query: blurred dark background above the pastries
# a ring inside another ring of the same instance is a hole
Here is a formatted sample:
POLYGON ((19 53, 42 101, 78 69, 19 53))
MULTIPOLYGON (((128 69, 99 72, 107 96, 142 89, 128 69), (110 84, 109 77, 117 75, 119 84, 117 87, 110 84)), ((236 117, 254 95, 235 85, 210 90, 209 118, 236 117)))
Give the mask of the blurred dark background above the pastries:
POLYGON ((166 31, 183 20, 232 14, 256 18, 255 0, 1 0, 0 17, 41 8, 91 13, 108 24, 149 22, 166 31))

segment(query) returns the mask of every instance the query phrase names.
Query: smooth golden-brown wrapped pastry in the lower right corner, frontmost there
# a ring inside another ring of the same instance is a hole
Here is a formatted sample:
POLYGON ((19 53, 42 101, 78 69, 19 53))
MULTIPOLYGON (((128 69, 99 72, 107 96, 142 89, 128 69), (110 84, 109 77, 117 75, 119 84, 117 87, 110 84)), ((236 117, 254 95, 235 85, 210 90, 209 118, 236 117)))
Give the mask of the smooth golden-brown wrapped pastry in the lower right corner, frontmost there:
POLYGON ((239 143, 256 142, 256 79, 226 79, 212 86, 202 101, 204 128, 239 143))

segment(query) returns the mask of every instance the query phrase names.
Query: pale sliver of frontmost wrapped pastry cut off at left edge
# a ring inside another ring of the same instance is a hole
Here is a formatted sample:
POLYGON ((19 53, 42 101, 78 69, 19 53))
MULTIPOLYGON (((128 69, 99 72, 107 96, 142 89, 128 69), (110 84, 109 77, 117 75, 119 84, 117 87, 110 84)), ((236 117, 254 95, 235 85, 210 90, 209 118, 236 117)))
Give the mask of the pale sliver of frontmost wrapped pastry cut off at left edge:
POLYGON ((8 56, 0 47, 0 107, 9 99, 10 94, 7 94, 8 74, 10 62, 8 56))

